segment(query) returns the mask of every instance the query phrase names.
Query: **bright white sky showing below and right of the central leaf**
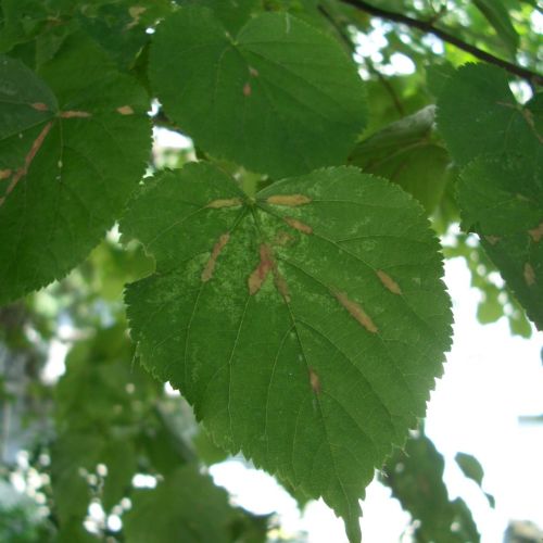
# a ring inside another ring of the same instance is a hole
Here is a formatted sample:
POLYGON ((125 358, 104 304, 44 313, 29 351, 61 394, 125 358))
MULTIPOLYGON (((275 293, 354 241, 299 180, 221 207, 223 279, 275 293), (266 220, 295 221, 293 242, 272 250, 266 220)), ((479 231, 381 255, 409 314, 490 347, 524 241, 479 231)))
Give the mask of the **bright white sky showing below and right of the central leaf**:
MULTIPOLYGON (((543 425, 518 421, 520 415, 543 414, 543 333, 530 340, 512 337, 505 318, 481 326, 475 316, 479 292, 469 286, 464 261, 449 261, 445 272, 456 321, 454 345, 431 395, 426 431, 445 456, 450 496, 467 502, 482 543, 495 543, 502 541, 508 520, 543 527, 543 425), (495 509, 456 466, 459 451, 482 464, 483 488, 496 498, 495 509)), ((312 504, 300 517, 294 501, 266 473, 239 462, 211 471, 243 507, 278 512, 286 533, 306 530, 310 543, 346 542, 342 522, 323 503, 312 504)), ((408 516, 388 489, 374 482, 363 509, 364 543, 402 541, 408 516)))

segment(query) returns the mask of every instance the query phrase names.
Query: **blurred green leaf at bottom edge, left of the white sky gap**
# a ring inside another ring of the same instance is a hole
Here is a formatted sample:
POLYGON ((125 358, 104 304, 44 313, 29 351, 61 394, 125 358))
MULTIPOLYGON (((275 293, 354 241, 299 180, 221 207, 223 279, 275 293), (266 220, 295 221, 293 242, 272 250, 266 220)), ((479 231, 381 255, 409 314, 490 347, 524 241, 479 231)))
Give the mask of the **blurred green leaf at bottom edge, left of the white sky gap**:
POLYGON ((131 501, 123 517, 130 543, 235 541, 238 515, 228 494, 193 465, 178 468, 153 490, 137 490, 131 501))

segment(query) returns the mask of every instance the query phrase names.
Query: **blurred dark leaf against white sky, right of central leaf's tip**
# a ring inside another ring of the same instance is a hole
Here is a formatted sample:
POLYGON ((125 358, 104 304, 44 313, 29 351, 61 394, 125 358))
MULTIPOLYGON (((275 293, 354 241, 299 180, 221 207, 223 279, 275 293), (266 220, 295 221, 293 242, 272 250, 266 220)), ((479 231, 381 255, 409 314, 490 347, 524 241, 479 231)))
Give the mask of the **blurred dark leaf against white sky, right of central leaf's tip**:
POLYGON ((417 522, 417 543, 477 543, 480 535, 471 513, 459 497, 449 498, 443 471, 443 456, 420 434, 387 462, 382 482, 417 522))

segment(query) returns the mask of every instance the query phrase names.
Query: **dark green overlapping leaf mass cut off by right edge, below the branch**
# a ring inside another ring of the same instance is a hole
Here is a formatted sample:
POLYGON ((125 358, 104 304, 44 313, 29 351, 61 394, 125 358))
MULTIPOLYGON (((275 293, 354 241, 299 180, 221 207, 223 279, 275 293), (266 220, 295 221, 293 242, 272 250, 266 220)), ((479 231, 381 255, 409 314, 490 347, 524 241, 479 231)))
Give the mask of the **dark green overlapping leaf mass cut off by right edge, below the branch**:
POLYGON ((439 100, 447 146, 466 165, 458 189, 464 226, 481 236, 528 316, 543 327, 543 100, 518 104, 505 74, 468 65, 439 100), (458 100, 457 97, 463 97, 458 100))

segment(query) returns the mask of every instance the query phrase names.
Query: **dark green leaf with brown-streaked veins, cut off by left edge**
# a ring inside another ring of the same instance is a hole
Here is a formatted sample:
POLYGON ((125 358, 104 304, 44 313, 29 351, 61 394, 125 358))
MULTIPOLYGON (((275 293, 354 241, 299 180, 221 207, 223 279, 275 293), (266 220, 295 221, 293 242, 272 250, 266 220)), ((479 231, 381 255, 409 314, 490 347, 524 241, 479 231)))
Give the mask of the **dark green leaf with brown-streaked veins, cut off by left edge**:
POLYGON ((0 303, 64 276, 143 173, 148 101, 83 36, 40 77, 0 59, 0 303))

